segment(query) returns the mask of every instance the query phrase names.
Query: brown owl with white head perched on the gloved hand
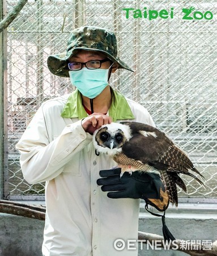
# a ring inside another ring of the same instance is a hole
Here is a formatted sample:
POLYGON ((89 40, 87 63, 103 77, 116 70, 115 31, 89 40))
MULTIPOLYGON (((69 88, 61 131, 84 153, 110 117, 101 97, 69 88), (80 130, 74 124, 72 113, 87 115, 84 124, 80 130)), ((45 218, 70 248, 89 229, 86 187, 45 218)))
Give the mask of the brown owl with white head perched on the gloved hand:
POLYGON ((139 122, 103 125, 93 134, 97 154, 108 154, 127 171, 158 172, 168 193, 169 201, 178 205, 177 186, 187 192, 180 174, 193 177, 203 185, 188 155, 178 148, 162 131, 139 122))

